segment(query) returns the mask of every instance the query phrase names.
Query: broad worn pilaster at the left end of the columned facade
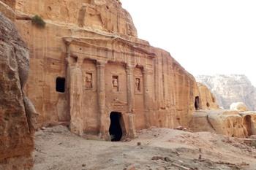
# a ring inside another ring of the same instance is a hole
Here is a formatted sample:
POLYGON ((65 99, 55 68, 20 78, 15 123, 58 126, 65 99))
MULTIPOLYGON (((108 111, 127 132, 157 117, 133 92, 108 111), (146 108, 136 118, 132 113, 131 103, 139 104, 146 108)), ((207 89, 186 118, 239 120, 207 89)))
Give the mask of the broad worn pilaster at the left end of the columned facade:
POLYGON ((69 87, 69 112, 70 112, 70 131, 75 134, 83 135, 83 77, 81 65, 82 58, 68 66, 68 87, 69 87))

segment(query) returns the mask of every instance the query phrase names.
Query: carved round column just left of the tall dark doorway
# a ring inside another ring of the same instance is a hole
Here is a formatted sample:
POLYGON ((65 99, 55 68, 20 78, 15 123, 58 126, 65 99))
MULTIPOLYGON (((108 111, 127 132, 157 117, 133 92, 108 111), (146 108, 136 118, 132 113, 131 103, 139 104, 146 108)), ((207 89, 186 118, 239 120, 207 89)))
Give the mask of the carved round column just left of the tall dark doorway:
POLYGON ((99 137, 106 138, 105 129, 105 61, 97 61, 97 94, 99 106, 99 137))

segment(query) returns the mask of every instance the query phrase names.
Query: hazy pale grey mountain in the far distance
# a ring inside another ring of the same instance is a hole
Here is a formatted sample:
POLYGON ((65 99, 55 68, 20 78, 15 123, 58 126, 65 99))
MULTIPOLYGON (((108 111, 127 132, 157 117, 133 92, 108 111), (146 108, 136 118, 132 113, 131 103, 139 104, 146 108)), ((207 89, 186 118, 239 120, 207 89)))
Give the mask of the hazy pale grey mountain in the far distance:
POLYGON ((219 107, 229 109, 234 102, 244 102, 249 110, 256 110, 256 88, 245 75, 199 75, 195 78, 214 93, 219 107))

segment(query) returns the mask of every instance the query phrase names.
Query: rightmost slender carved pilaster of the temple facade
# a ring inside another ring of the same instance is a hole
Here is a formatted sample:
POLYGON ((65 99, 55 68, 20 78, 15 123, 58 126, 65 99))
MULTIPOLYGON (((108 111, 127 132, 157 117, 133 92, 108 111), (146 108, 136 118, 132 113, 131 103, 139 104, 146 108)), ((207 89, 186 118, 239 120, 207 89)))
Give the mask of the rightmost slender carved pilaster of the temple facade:
POLYGON ((149 72, 148 69, 143 69, 143 98, 144 98, 144 111, 145 111, 145 120, 146 120, 146 128, 150 128, 150 119, 149 119, 149 111, 150 111, 150 94, 149 94, 149 82, 148 82, 149 72))

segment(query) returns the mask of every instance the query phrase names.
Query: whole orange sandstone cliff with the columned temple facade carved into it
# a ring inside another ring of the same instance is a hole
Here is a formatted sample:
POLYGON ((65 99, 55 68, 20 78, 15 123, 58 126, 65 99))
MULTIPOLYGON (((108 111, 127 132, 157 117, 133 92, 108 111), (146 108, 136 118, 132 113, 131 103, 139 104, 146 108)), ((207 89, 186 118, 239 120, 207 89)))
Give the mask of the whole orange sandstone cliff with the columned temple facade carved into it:
POLYGON ((169 53, 137 38, 116 0, 22 1, 45 28, 17 20, 31 51, 26 93, 39 125, 68 122, 80 135, 135 136, 150 126, 188 126, 197 84, 169 53))

